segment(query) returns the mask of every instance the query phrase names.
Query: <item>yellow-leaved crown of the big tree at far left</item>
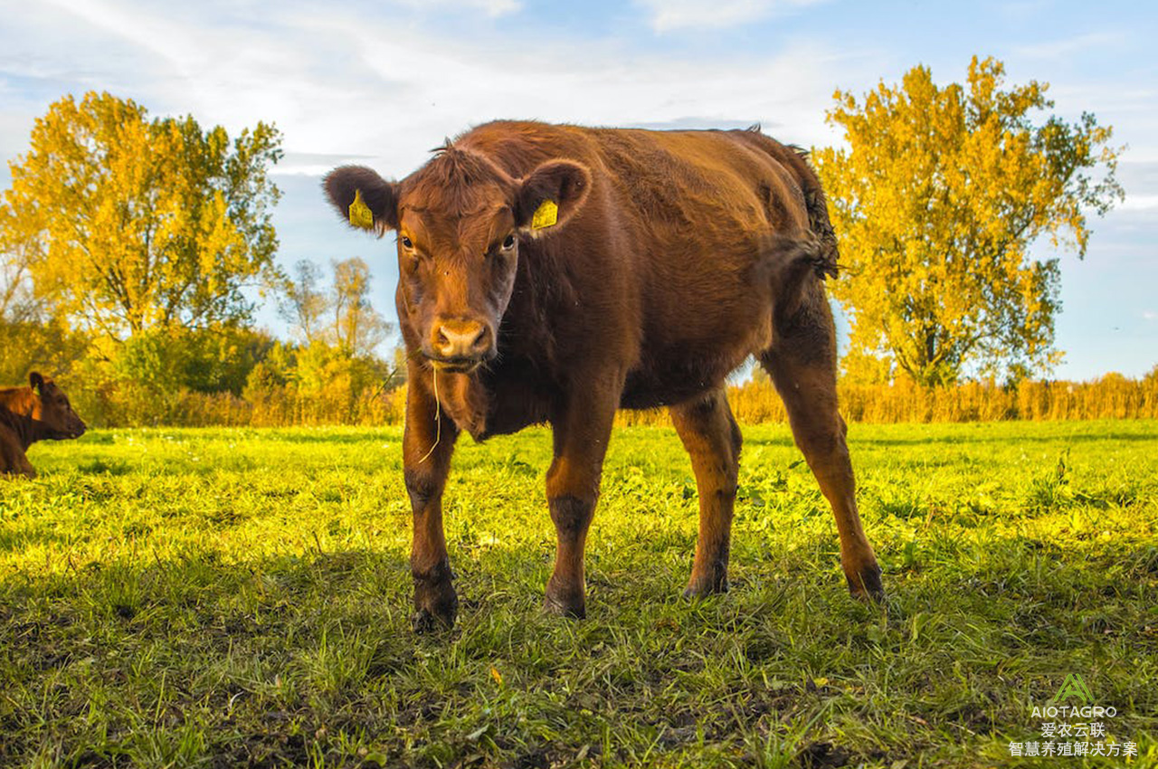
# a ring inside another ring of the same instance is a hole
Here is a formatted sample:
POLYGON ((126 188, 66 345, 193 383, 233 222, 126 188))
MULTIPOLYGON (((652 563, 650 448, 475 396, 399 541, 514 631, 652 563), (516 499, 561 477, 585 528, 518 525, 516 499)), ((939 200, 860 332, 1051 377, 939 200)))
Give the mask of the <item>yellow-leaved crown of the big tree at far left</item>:
POLYGON ((243 288, 274 276, 265 123, 233 141, 191 117, 149 119, 109 94, 53 103, 9 163, 3 241, 28 252, 54 313, 107 339, 244 321, 243 288))

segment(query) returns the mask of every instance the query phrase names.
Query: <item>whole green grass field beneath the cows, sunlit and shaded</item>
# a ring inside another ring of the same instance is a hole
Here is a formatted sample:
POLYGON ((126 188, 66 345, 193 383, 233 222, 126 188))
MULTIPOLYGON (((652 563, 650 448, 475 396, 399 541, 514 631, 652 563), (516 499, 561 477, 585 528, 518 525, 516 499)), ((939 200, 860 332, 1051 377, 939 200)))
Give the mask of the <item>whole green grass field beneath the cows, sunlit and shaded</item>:
POLYGON ((549 433, 462 441, 434 636, 400 430, 37 445, 0 482, 0 766, 1158 766, 1158 423, 853 426, 884 608, 787 430, 745 435, 732 591, 689 602, 690 464, 616 432, 582 622, 540 609, 549 433), (1071 673, 1137 757, 1011 756, 1071 673))

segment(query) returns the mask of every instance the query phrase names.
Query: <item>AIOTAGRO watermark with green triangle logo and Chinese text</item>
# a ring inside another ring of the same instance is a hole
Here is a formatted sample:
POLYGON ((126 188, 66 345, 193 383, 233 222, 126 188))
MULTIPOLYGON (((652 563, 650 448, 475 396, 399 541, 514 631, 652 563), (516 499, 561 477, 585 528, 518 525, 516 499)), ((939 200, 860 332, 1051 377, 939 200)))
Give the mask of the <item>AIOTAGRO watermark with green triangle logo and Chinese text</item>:
POLYGON ((1040 737, 1010 742, 1010 755, 1137 756, 1136 742, 1119 741, 1109 731, 1116 716, 1116 708, 1099 704, 1082 676, 1070 673, 1053 700, 1029 711, 1040 737))

